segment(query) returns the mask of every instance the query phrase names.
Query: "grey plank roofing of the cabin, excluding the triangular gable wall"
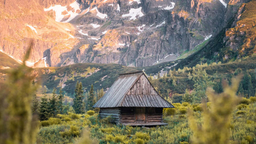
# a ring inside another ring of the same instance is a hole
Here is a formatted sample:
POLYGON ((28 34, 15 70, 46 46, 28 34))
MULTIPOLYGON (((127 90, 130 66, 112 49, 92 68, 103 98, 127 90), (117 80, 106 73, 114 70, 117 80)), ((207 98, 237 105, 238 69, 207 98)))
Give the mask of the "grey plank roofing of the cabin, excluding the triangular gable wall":
POLYGON ((172 104, 159 95, 126 95, 127 91, 142 74, 144 74, 143 71, 120 74, 106 94, 100 98, 93 107, 173 107, 172 104), (130 99, 132 99, 132 101, 130 99))

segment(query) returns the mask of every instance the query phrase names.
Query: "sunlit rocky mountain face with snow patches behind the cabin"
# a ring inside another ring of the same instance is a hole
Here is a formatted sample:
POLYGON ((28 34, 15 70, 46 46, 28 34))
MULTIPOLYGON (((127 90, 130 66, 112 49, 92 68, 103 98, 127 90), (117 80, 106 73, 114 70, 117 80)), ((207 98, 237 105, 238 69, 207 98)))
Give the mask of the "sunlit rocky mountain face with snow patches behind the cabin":
POLYGON ((215 36, 239 0, 24 0, 0 3, 0 50, 31 67, 150 66, 215 36))

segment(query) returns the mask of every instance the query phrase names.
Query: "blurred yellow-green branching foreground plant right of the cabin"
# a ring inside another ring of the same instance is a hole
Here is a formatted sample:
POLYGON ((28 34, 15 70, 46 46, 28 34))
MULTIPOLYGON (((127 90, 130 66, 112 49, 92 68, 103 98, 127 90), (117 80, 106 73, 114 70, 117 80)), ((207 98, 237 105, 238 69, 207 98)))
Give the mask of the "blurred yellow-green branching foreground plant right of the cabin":
POLYGON ((224 90, 216 94, 208 89, 207 95, 211 101, 210 110, 203 106, 202 126, 198 126, 196 119, 190 112, 189 126, 193 130, 192 143, 194 144, 227 144, 229 143, 229 128, 232 112, 238 103, 236 91, 241 76, 232 79, 232 86, 224 82, 224 90))

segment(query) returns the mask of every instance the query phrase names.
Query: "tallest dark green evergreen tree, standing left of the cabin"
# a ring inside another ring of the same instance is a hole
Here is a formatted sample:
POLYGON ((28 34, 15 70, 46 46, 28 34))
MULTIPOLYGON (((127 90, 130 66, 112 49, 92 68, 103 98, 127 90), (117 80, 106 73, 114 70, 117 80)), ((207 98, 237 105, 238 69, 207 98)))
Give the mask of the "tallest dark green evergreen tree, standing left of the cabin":
POLYGON ((73 104, 73 108, 76 114, 83 114, 85 110, 82 87, 83 87, 82 83, 81 82, 79 83, 77 81, 75 95, 74 95, 74 104, 73 104))

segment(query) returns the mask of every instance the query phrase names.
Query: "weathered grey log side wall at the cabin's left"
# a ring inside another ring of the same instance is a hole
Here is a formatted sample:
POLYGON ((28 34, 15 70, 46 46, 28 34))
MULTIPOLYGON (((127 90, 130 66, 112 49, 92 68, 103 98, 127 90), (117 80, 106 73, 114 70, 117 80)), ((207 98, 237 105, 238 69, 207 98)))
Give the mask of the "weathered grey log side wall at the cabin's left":
POLYGON ((120 123, 120 108, 100 108, 100 118, 111 116, 115 123, 120 123))

